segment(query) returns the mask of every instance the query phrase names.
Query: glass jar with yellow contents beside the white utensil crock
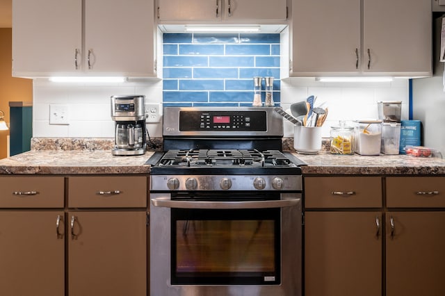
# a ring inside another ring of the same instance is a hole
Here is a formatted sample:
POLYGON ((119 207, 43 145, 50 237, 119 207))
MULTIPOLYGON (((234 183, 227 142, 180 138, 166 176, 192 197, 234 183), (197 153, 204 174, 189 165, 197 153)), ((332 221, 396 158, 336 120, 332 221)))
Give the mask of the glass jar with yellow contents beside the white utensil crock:
POLYGON ((339 122, 339 126, 331 126, 330 139, 332 154, 354 154, 353 148, 354 127, 339 122))

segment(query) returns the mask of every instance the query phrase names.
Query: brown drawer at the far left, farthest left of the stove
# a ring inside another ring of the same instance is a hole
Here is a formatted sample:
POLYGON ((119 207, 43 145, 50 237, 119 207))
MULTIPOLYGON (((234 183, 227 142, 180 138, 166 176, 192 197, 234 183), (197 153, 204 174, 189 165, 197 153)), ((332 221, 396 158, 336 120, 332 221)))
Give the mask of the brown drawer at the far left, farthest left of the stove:
POLYGON ((1 176, 0 208, 63 208, 63 176, 1 176))

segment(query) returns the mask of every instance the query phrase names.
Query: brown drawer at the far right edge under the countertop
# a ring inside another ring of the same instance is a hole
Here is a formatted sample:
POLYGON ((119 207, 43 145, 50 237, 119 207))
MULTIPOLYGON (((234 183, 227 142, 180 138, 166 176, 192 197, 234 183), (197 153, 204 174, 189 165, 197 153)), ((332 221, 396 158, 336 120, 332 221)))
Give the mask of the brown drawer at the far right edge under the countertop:
POLYGON ((445 208, 445 177, 387 177, 388 208, 445 208))

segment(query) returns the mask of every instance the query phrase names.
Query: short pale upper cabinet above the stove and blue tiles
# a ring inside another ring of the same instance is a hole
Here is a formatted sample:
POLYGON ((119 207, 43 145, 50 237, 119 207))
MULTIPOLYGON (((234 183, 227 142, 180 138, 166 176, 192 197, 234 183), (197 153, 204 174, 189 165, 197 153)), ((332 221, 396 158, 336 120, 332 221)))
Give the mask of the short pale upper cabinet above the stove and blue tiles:
POLYGON ((158 0, 159 23, 261 24, 286 20, 286 0, 158 0))

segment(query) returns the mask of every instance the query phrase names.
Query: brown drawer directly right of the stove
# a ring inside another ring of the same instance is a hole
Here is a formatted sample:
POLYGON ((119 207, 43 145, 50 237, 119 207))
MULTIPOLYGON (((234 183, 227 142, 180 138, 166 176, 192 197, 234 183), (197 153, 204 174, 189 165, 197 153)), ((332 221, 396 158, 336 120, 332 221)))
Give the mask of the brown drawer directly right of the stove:
POLYGON ((380 208, 378 176, 305 177, 306 208, 380 208))

